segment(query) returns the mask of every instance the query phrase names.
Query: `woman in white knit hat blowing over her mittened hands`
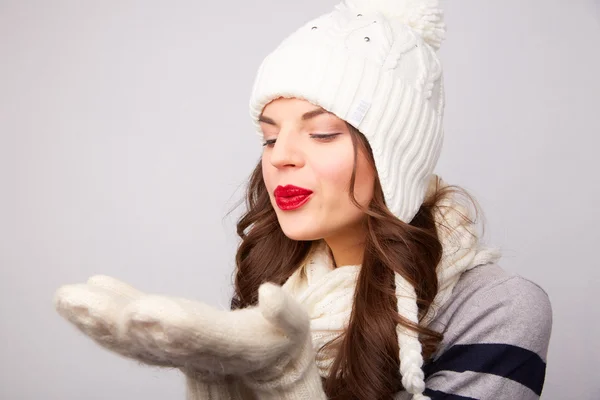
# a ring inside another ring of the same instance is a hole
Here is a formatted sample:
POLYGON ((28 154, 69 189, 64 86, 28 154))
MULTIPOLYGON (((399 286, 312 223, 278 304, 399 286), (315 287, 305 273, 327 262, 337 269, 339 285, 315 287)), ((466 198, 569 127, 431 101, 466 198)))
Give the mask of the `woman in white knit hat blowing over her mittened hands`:
POLYGON ((103 276, 61 288, 58 311, 181 369, 190 399, 537 399, 548 298, 433 174, 444 30, 434 1, 344 1, 265 58, 232 311, 103 276))

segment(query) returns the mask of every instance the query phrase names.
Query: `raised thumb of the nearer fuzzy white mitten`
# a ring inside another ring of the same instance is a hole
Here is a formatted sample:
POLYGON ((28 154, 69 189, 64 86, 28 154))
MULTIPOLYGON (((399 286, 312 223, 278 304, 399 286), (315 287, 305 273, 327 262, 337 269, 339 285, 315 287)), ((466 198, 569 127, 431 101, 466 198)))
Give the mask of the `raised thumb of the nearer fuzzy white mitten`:
POLYGON ((280 286, 263 283, 258 288, 258 308, 263 316, 293 340, 300 340, 309 329, 304 308, 280 286))

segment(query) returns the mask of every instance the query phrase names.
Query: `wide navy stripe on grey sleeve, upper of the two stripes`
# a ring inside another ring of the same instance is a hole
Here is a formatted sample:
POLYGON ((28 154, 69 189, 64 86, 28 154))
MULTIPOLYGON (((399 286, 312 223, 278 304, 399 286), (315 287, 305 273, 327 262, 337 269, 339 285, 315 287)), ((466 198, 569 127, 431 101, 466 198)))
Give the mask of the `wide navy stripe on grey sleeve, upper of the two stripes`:
POLYGON ((519 382, 540 396, 546 363, 533 351, 510 344, 458 344, 423 366, 426 377, 439 371, 494 374, 519 382))

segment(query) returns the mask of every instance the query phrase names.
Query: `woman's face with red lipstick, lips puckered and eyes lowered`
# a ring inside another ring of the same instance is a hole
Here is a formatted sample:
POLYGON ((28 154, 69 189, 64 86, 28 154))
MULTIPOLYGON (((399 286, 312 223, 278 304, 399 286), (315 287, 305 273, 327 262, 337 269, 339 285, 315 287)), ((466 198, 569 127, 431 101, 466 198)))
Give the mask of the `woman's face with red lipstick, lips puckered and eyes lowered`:
MULTIPOLYGON (((354 147, 346 123, 305 100, 263 110, 263 178, 281 229, 293 240, 362 235, 365 214, 350 199, 354 147)), ((360 148, 354 196, 367 206, 375 174, 360 148)))

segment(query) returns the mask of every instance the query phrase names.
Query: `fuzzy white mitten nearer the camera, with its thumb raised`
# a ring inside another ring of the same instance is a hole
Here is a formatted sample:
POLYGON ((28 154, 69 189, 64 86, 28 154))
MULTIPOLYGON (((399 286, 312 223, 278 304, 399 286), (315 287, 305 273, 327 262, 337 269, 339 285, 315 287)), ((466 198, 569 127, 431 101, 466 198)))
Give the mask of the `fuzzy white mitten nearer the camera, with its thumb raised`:
POLYGON ((240 310, 152 295, 124 314, 136 347, 188 371, 239 376, 261 400, 327 399, 308 315, 280 286, 264 283, 258 305, 240 310))

